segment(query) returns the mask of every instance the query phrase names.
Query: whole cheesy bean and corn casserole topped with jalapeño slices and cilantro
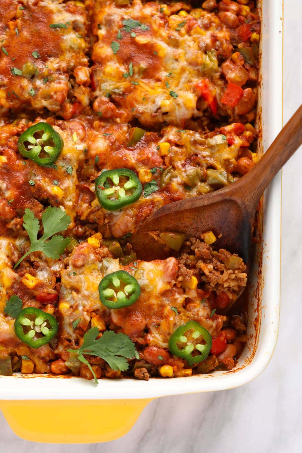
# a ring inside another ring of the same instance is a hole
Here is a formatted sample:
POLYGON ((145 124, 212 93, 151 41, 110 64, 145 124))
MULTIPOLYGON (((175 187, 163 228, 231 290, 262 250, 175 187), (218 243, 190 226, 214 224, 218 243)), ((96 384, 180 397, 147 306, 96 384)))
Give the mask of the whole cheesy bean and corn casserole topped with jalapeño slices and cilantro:
POLYGON ((246 263, 153 231, 258 161, 254 1, 0 0, 0 375, 231 370, 246 263))

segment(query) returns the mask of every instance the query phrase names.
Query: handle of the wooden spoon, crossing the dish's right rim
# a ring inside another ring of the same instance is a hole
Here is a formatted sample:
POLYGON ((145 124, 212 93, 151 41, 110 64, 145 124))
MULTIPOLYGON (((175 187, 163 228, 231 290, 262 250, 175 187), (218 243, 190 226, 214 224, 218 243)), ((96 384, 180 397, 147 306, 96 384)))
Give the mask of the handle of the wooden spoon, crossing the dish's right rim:
MULTIPOLYGON (((283 127, 258 164, 238 181, 244 186, 246 207, 252 212, 271 182, 288 159, 302 145, 302 106, 283 127)), ((243 189, 243 187, 242 187, 243 189)))

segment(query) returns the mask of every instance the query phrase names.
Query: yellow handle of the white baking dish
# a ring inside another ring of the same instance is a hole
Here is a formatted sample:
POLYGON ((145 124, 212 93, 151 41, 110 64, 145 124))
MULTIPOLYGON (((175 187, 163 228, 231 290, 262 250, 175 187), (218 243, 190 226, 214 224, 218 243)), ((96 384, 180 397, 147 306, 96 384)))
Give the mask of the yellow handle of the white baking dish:
POLYGON ((22 439, 99 443, 128 433, 151 400, 2 400, 0 409, 22 439))

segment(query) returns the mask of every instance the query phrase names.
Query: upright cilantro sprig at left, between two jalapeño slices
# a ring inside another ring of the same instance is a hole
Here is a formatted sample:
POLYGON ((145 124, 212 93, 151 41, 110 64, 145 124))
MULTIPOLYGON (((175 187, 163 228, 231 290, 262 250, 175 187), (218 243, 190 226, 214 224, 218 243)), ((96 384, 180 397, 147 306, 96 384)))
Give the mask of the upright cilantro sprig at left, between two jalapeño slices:
POLYGON ((43 212, 41 219, 44 233, 43 236, 38 239, 38 231, 40 229, 39 221, 37 217, 34 217, 34 212, 29 208, 25 208, 23 226, 29 235, 30 249, 19 259, 18 263, 14 265, 14 269, 31 252, 41 251, 45 253, 48 258, 56 260, 64 253, 64 250, 68 246, 70 242, 69 237, 64 238, 61 235, 53 235, 59 231, 67 230, 71 218, 67 216, 61 208, 48 206, 43 212), (53 237, 49 239, 51 236, 53 237), (49 239, 49 241, 47 241, 47 239, 49 239))

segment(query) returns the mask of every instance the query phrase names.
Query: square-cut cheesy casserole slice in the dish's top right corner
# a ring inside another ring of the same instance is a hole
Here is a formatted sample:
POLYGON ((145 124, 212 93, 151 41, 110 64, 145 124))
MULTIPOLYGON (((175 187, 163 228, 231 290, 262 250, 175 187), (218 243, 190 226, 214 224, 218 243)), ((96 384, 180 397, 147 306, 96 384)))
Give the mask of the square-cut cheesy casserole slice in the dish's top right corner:
POLYGON ((192 118, 202 126, 213 118, 254 119, 259 48, 251 36, 259 32, 256 12, 244 17, 243 6, 236 4, 236 14, 228 13, 230 23, 223 10, 192 9, 182 2, 117 3, 92 5, 92 31, 98 37, 92 49, 95 111, 118 122, 137 118, 149 126, 167 121, 188 128, 193 128, 192 118), (248 48, 246 59, 238 46, 248 48))

